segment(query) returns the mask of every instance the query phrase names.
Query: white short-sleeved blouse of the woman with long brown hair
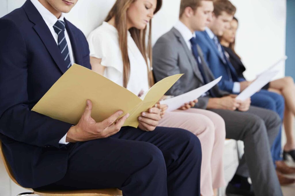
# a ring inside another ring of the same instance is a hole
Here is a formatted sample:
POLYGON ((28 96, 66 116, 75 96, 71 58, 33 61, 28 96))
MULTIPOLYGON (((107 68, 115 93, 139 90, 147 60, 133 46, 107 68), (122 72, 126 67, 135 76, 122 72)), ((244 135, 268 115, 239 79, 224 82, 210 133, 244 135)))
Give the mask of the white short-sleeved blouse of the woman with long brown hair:
MULTIPOLYGON (((132 39, 130 32, 127 36, 128 57, 130 61, 130 78, 127 89, 138 95, 141 90, 147 92, 148 68, 144 57, 132 39)), ((117 29, 107 22, 94 31, 87 39, 90 56, 101 59, 101 65, 105 67, 104 77, 123 86, 123 61, 119 47, 119 35, 117 29)))

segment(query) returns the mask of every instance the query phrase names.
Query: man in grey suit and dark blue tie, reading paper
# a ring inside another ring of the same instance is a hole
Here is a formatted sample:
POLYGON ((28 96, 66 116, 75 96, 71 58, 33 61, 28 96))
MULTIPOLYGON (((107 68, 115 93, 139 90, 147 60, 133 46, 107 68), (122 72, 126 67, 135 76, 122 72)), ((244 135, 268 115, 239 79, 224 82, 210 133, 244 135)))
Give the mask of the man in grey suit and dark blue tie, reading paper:
MULTIPOLYGON (((184 74, 167 92, 180 95, 214 80, 194 31, 204 31, 213 11, 212 0, 181 0, 177 24, 161 36, 153 47, 153 72, 156 81, 173 74, 184 74)), ((227 195, 281 196, 270 153, 281 120, 267 109, 250 106, 235 99, 235 95, 219 90, 216 85, 199 98, 197 108, 208 109, 223 117, 226 137, 242 140, 245 154, 235 176, 227 186, 227 195), (251 178, 252 185, 248 183, 251 178)))

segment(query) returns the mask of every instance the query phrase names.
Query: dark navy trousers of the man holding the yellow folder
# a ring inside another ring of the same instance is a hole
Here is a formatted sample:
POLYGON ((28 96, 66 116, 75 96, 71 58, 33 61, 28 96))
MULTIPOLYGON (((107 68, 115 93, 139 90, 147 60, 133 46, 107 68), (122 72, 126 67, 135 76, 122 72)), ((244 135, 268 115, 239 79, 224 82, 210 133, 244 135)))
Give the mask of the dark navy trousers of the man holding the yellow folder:
POLYGON ((63 179, 42 189, 117 187, 124 196, 200 195, 201 144, 189 131, 123 127, 117 134, 67 146, 63 179))

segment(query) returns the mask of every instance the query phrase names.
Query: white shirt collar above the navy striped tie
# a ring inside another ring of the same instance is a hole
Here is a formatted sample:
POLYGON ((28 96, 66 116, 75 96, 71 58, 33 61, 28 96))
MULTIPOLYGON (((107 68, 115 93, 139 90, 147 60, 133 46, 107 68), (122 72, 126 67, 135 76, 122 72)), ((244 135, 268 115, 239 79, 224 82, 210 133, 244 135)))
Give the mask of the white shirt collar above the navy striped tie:
POLYGON ((53 26, 58 20, 64 21, 64 14, 61 13, 59 19, 56 18, 48 9, 46 9, 38 0, 31 0, 32 4, 41 14, 47 26, 53 26))

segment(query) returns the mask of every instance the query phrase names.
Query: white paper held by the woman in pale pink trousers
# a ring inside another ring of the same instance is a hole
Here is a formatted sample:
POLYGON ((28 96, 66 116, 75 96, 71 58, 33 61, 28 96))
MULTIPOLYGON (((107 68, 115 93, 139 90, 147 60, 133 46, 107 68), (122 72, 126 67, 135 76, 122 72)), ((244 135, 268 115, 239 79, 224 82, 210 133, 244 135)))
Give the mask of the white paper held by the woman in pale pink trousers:
POLYGON ((189 103, 195 99, 198 99, 202 94, 206 93, 207 91, 209 91, 209 89, 214 87, 221 80, 221 78, 222 76, 190 92, 160 101, 160 104, 168 105, 168 109, 166 110, 167 112, 174 111, 183 106, 185 103, 189 103))

